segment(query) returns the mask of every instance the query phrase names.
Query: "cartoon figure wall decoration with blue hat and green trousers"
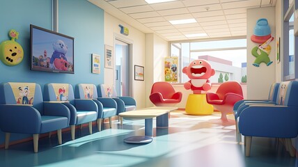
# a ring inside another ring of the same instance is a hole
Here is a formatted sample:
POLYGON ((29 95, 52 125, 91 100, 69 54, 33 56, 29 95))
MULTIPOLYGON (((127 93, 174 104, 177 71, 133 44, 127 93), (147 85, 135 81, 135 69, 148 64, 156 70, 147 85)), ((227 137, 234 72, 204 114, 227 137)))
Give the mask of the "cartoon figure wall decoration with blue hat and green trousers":
POLYGON ((260 63, 265 63, 269 66, 273 63, 269 58, 271 52, 271 46, 269 44, 273 40, 274 37, 271 35, 271 29, 267 19, 258 19, 256 26, 253 29, 253 35, 251 35, 251 41, 260 44, 251 49, 251 54, 256 57, 253 66, 260 67, 260 63))

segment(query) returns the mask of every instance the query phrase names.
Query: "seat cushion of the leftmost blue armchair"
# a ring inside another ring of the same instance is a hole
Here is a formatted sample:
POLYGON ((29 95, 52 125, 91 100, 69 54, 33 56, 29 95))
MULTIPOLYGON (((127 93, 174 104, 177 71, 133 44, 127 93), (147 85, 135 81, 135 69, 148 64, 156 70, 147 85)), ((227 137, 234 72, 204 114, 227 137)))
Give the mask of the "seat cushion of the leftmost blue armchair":
POLYGON ((41 116, 40 134, 68 127, 68 118, 61 116, 41 116))

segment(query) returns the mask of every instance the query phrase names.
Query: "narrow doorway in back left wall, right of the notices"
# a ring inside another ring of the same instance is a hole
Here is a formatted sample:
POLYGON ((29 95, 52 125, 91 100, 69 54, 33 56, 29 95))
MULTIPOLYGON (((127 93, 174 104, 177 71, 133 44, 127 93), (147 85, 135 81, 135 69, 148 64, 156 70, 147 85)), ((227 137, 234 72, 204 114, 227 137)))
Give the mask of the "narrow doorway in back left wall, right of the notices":
POLYGON ((130 47, 132 44, 115 39, 115 88, 118 96, 131 96, 130 47))

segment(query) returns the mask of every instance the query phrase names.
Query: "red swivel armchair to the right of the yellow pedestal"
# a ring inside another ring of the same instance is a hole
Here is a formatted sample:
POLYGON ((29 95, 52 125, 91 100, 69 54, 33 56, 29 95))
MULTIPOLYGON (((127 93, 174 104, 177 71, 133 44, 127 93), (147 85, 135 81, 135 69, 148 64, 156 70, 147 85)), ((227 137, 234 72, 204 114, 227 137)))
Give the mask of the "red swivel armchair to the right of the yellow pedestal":
POLYGON ((217 89, 217 93, 206 94, 207 103, 212 104, 221 112, 219 120, 212 121, 221 125, 235 125, 235 120, 228 120, 227 113, 233 112, 233 106, 243 100, 242 87, 237 81, 226 81, 217 89))

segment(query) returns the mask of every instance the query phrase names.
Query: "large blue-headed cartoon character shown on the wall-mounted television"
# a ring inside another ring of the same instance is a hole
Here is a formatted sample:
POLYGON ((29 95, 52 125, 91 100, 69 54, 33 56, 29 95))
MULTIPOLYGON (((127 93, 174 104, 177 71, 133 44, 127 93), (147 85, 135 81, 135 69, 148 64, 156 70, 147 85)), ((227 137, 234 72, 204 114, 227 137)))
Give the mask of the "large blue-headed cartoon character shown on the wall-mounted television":
MULTIPOLYGON (((54 70, 65 70, 65 65, 68 65, 68 58, 66 53, 68 52, 68 46, 65 45, 63 40, 56 40, 53 44, 54 53, 49 61, 49 67, 54 70)), ((67 70, 68 66, 66 67, 67 70)))

